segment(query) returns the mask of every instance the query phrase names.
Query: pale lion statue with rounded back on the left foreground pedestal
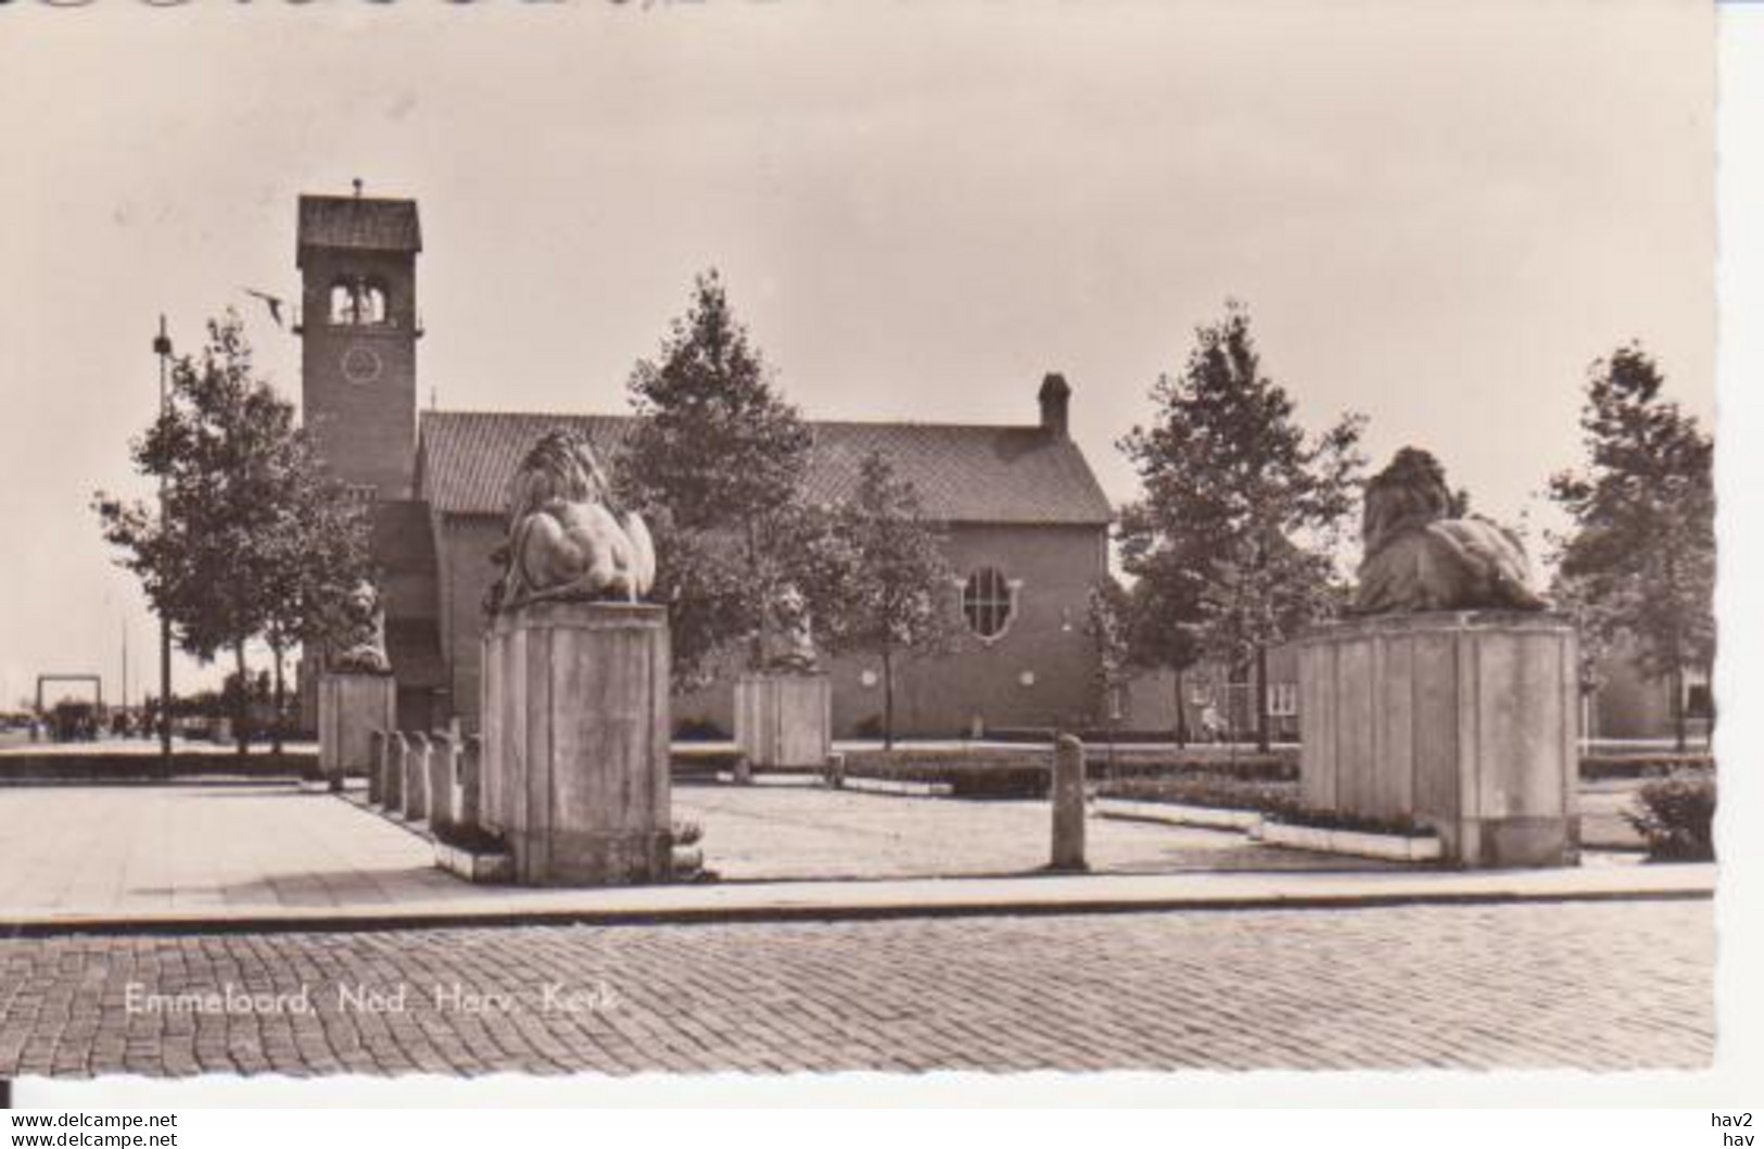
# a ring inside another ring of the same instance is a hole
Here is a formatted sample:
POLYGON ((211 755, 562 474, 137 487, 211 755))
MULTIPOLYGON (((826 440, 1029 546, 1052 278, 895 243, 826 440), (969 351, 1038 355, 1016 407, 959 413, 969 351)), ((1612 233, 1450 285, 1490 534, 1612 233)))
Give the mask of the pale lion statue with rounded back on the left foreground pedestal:
POLYGON ((612 491, 579 431, 550 431, 533 445, 508 489, 508 542, 492 605, 550 598, 637 602, 656 577, 642 515, 614 514, 612 491))

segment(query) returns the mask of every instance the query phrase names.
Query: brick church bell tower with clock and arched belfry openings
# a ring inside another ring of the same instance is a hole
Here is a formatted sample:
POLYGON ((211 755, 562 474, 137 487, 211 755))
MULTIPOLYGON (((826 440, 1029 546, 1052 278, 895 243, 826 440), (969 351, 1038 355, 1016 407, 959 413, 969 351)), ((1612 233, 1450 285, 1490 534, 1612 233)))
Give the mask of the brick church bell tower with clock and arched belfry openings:
POLYGON ((300 196, 300 402, 330 473, 411 498, 416 462, 415 199, 300 196))

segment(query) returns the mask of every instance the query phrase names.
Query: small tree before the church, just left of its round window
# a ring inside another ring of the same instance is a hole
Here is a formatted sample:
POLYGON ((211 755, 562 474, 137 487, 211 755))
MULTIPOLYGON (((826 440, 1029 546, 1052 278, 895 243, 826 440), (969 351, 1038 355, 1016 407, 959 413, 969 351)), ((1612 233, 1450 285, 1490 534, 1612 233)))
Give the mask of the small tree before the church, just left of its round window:
POLYGON ((810 563, 810 600, 822 605, 818 630, 829 650, 882 658, 882 745, 894 748, 894 674, 903 655, 947 651, 960 634, 954 582, 924 505, 871 452, 856 492, 831 512, 818 559, 810 563))

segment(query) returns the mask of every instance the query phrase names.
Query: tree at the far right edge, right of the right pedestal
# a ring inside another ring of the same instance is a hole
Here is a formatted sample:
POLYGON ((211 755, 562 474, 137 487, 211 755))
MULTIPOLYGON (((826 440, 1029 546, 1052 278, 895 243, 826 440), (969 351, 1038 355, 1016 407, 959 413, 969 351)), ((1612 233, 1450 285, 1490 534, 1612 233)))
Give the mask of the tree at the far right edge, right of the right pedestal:
POLYGON ((1588 372, 1586 466, 1551 477, 1573 519, 1558 584, 1573 590, 1595 642, 1626 637, 1639 669, 1672 690, 1686 743, 1685 672, 1715 658, 1715 441, 1676 402, 1641 344, 1588 372))

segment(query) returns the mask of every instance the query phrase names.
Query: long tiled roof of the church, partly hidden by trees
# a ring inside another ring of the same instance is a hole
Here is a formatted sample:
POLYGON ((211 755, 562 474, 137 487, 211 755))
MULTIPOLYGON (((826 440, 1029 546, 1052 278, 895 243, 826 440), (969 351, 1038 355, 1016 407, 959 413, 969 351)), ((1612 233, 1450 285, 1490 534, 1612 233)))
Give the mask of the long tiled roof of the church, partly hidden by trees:
MULTIPOLYGON (((423 411, 420 498, 443 514, 501 514, 520 457, 552 427, 580 427, 607 459, 632 427, 621 415, 423 411)), ((1104 524, 1108 498, 1083 452, 1041 427, 811 422, 806 489, 836 503, 857 485, 870 452, 912 480, 942 522, 1104 524)))

